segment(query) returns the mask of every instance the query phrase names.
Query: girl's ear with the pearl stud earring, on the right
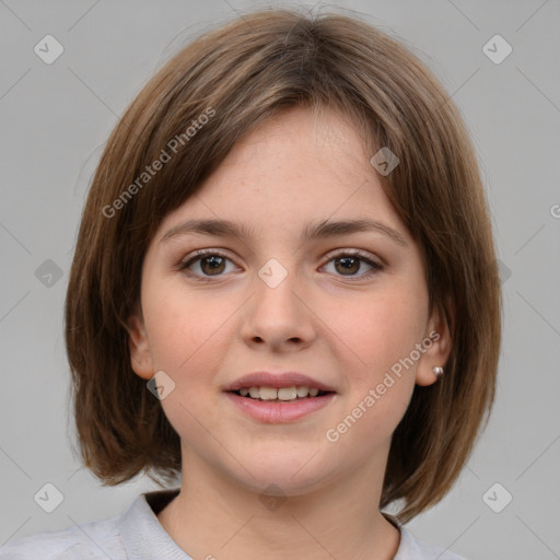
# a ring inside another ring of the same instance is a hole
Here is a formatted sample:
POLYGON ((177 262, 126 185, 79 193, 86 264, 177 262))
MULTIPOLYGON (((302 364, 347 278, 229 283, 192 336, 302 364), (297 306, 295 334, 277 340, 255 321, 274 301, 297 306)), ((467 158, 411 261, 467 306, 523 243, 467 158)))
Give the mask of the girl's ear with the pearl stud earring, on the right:
POLYGON ((438 381, 433 368, 443 368, 443 375, 445 376, 445 363, 451 353, 451 331, 443 310, 433 311, 428 322, 422 346, 425 351, 418 362, 416 383, 417 385, 428 386, 438 381))

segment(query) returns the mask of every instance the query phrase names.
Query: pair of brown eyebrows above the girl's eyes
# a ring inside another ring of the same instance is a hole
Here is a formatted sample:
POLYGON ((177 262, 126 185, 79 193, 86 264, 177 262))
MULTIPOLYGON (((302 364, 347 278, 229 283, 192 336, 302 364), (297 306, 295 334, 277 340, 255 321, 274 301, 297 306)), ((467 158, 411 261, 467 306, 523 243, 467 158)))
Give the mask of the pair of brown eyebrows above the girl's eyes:
MULTIPOLYGON (((360 220, 342 220, 338 222, 323 220, 317 224, 307 224, 307 226, 302 232, 301 242, 306 243, 323 237, 338 237, 342 235, 349 235, 352 233, 371 231, 384 233, 397 245, 400 245, 402 247, 408 246, 405 238, 397 231, 389 228, 388 225, 385 225, 384 223, 368 218, 363 218, 360 220)), ((171 230, 168 230, 165 233, 165 235, 160 240, 160 243, 164 243, 171 240, 172 237, 176 237, 179 235, 188 235, 196 233, 206 235, 217 235, 221 237, 232 236, 242 240, 253 236, 252 231, 247 229, 244 223, 236 224, 228 220, 217 219, 191 219, 182 222, 172 228, 171 230)))

